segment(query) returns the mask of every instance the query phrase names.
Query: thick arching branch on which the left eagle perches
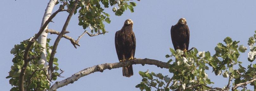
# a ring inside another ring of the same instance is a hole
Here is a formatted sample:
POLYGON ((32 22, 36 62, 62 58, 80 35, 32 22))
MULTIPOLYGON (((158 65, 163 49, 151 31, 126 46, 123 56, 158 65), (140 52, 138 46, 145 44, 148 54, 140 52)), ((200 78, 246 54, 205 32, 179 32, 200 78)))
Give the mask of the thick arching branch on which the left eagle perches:
POLYGON ((128 65, 135 65, 135 64, 156 65, 157 67, 166 68, 166 69, 168 69, 170 67, 170 64, 168 64, 166 62, 162 62, 162 61, 159 61, 159 60, 147 59, 147 58, 145 58, 145 59, 134 59, 134 60, 126 61, 126 62, 106 63, 106 64, 101 64, 101 65, 95 65, 93 67, 89 67, 89 68, 86 68, 82 71, 79 71, 79 72, 75 73, 74 75, 72 75, 71 77, 68 77, 67 79, 64 79, 60 82, 55 82, 48 91, 54 91, 57 88, 61 88, 61 87, 65 86, 65 85, 68 85, 70 83, 74 83, 79 78, 84 77, 86 75, 89 75, 91 73, 97 72, 97 71, 103 72, 106 69, 111 70, 111 69, 120 68, 120 67, 124 67, 124 66, 128 66, 128 65))

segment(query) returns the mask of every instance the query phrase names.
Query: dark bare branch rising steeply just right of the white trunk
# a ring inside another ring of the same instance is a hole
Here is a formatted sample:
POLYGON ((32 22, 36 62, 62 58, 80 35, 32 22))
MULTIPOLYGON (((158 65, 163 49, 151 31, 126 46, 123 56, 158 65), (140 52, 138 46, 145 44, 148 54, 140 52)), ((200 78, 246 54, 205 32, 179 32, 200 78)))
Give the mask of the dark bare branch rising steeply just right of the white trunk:
MULTIPOLYGON (((58 37, 56 38, 55 42, 54 42, 54 45, 53 45, 53 49, 52 49, 52 53, 50 55, 50 58, 49 58, 49 73, 51 73, 54 69, 53 69, 53 60, 54 60, 54 55, 56 53, 56 50, 57 50, 57 46, 61 40, 61 37, 63 37, 63 35, 66 33, 66 29, 67 29, 67 25, 72 17, 72 15, 74 14, 74 11, 76 9, 76 6, 78 4, 78 0, 76 0, 74 2, 74 5, 73 5, 73 9, 71 10, 71 12, 68 14, 67 16, 67 20, 61 30, 61 33, 58 35, 58 37)), ((51 75, 51 74, 50 74, 51 75)))

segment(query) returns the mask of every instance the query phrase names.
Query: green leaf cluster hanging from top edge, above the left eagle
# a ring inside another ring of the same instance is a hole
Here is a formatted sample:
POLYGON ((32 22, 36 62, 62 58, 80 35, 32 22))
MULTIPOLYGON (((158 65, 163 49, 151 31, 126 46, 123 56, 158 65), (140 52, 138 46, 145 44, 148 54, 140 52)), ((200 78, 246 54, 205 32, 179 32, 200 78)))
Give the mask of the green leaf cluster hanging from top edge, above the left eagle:
MULTIPOLYGON (((60 0, 60 2, 64 1, 68 2, 67 8, 71 10, 74 0, 60 0)), ((133 7, 136 6, 136 3, 130 2, 130 0, 80 0, 74 12, 74 14, 77 11, 79 13, 78 25, 82 26, 83 29, 89 27, 92 33, 105 33, 106 29, 103 22, 110 23, 111 20, 109 18, 110 15, 104 12, 103 8, 109 8, 110 6, 114 6, 112 10, 115 15, 121 16, 127 8, 134 12, 133 7)))

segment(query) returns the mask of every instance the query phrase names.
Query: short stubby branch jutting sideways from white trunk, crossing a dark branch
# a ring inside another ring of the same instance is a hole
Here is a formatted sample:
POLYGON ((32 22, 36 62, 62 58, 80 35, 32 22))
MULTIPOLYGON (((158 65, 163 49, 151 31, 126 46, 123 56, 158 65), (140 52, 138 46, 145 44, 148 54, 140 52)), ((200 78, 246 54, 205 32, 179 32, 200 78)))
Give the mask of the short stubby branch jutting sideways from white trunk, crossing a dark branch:
MULTIPOLYGON (((52 30, 52 29, 47 29, 46 32, 49 32, 50 34, 57 34, 57 35, 60 34, 59 31, 55 31, 55 30, 52 30)), ((67 35, 63 35, 63 37, 66 38, 66 39, 68 39, 68 40, 70 40, 70 42, 74 45, 75 48, 77 48, 75 45, 80 46, 79 43, 76 43, 76 41, 74 40, 74 38, 69 37, 69 36, 67 36, 67 35)))

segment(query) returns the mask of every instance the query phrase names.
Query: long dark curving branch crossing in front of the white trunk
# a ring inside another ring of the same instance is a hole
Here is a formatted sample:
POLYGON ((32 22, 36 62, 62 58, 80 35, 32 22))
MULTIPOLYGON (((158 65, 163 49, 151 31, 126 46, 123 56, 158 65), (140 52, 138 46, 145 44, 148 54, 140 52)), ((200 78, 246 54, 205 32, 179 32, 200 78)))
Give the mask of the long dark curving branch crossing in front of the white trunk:
POLYGON ((20 78, 19 78, 19 90, 20 91, 24 91, 24 75, 26 72, 26 68, 28 66, 29 63, 29 50, 32 46, 32 44, 35 42, 35 40, 41 35, 41 33, 44 31, 44 29, 46 28, 46 26, 49 24, 49 22, 56 16, 56 14, 58 14, 59 12, 61 12, 62 9, 64 9, 64 6, 66 5, 66 3, 64 3, 62 5, 62 7, 60 7, 56 12, 54 12, 49 19, 44 23, 44 25, 40 28, 40 30, 38 31, 38 33, 35 35, 35 37, 29 41, 28 46, 26 47, 25 51, 24 51, 24 65, 22 66, 21 72, 20 72, 20 78))

